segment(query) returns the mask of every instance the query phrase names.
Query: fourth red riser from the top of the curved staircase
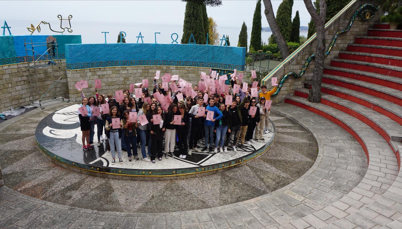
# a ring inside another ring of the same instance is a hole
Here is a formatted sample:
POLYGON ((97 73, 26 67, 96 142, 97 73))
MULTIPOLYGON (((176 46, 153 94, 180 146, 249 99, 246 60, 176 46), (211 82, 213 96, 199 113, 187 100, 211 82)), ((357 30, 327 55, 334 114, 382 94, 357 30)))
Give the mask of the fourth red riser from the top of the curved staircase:
POLYGON ((392 46, 349 44, 347 51, 402 57, 402 48, 392 46))

